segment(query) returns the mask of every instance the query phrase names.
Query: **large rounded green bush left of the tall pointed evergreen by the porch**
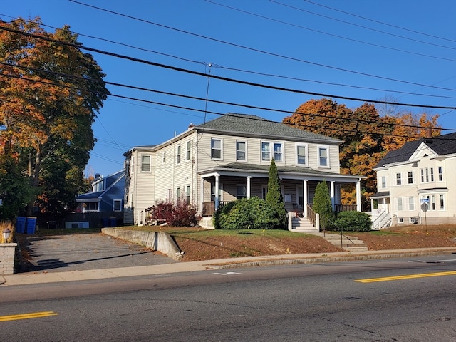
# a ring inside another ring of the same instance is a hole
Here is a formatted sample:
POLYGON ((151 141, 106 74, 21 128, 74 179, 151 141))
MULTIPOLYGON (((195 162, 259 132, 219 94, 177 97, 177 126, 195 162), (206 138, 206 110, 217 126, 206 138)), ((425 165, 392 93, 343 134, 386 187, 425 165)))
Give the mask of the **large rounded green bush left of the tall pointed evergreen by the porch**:
POLYGON ((273 207, 259 197, 237 199, 214 214, 216 229, 281 229, 273 207))

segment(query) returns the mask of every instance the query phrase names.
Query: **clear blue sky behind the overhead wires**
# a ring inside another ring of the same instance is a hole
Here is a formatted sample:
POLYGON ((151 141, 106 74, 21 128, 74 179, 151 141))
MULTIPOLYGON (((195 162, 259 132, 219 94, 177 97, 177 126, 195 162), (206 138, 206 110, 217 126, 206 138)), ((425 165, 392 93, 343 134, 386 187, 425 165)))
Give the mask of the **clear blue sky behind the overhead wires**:
MULTIPOLYGON (((353 109, 363 102, 343 98, 456 107, 454 0, 78 1, 90 6, 69 0, 3 0, 0 18, 40 16, 48 26, 71 26, 84 46, 203 74, 92 53, 107 74, 105 81, 127 86, 285 112, 321 98, 204 76, 210 74, 331 95, 353 109)), ((119 86, 108 89, 143 101, 115 96, 105 101, 93 125, 98 142, 86 175, 121 170, 123 152, 131 147, 164 142, 190 123, 217 117, 205 110, 275 121, 291 115, 119 86)), ((456 130, 456 110, 397 109, 439 114, 443 133, 456 130)))

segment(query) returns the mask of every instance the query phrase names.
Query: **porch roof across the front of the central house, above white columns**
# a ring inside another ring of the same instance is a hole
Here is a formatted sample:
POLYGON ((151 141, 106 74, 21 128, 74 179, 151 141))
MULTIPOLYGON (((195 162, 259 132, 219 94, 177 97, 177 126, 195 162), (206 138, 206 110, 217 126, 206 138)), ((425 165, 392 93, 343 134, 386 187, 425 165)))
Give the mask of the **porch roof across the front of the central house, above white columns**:
MULTIPOLYGON (((340 175, 333 172, 324 172, 314 170, 310 167, 301 166, 277 166, 277 171, 281 178, 299 179, 299 180, 338 180, 342 182, 358 182, 360 178, 366 178, 359 175, 340 175)), ((226 176, 256 176, 269 177, 269 165, 247 164, 244 162, 232 162, 225 165, 219 165, 207 170, 202 170, 199 175, 208 177, 212 173, 226 176)))

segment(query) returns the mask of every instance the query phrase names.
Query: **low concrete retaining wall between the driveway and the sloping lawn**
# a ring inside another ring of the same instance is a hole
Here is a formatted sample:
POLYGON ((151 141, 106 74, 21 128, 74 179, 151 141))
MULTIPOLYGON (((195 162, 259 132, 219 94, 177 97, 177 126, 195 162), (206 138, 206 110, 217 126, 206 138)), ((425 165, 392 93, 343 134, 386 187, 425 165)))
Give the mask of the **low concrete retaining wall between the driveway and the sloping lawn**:
POLYGON ((182 259, 182 253, 172 237, 170 237, 170 234, 115 228, 103 228, 101 229, 101 232, 110 235, 111 237, 118 237, 119 239, 140 244, 141 246, 166 254, 168 257, 172 257, 172 259, 182 259))

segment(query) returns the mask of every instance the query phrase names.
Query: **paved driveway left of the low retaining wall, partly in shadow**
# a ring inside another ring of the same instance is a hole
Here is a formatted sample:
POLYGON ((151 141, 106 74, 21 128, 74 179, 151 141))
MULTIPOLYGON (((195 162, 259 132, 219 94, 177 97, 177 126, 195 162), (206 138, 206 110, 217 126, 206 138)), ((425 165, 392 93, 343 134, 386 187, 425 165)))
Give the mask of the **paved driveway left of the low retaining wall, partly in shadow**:
POLYGON ((104 234, 26 236, 28 262, 21 272, 82 271, 172 264, 177 261, 150 249, 104 234))

